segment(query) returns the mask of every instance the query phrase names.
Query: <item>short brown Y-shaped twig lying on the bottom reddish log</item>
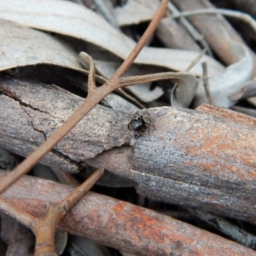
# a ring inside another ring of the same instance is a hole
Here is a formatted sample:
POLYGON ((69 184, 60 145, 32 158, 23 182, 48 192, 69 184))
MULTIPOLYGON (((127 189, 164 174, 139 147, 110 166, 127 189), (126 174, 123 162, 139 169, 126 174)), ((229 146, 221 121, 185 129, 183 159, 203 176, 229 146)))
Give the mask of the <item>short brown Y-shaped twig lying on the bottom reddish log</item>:
POLYGON ((68 195, 67 198, 57 204, 49 204, 45 215, 40 218, 36 218, 28 212, 16 208, 2 198, 0 198, 0 209, 33 231, 36 236, 35 256, 56 256, 54 236, 59 221, 81 199, 84 193, 92 188, 103 172, 104 168, 97 170, 81 186, 68 195))

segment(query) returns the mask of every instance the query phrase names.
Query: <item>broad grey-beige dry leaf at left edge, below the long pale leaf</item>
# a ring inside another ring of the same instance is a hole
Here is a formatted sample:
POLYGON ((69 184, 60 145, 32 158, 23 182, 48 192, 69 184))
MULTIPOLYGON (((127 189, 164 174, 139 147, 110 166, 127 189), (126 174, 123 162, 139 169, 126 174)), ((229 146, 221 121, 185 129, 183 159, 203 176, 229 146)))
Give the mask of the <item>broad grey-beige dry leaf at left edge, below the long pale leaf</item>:
POLYGON ((88 74, 76 52, 50 35, 8 20, 0 20, 0 35, 0 70, 44 63, 88 74))

